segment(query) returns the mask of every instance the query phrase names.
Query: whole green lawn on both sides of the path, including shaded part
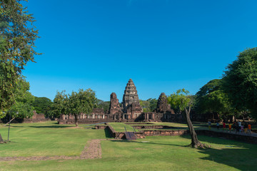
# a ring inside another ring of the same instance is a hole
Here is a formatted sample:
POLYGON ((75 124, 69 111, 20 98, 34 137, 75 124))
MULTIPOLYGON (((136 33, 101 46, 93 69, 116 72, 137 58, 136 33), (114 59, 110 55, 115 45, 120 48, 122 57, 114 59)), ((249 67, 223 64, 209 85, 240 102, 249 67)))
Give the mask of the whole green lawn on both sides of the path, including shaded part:
MULTIPOLYGON (((0 145, 0 157, 77 156, 87 141, 106 138, 104 130, 73 126, 56 122, 12 124, 11 142, 0 145)), ((7 130, 0 126, 4 139, 7 130)), ((105 140, 101 141, 101 159, 0 161, 0 170, 256 170, 257 145, 206 136, 198 139, 211 148, 186 147, 189 136, 105 140)))

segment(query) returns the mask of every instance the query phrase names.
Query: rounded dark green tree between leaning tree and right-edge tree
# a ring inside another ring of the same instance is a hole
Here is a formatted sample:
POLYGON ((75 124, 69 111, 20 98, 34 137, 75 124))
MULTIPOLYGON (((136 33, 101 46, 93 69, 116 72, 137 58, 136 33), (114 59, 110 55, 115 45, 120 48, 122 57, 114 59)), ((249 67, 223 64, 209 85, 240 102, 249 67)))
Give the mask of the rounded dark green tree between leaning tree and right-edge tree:
POLYGON ((196 110, 198 113, 218 113, 221 118, 233 115, 228 95, 224 93, 221 79, 209 81, 196 93, 196 110))

